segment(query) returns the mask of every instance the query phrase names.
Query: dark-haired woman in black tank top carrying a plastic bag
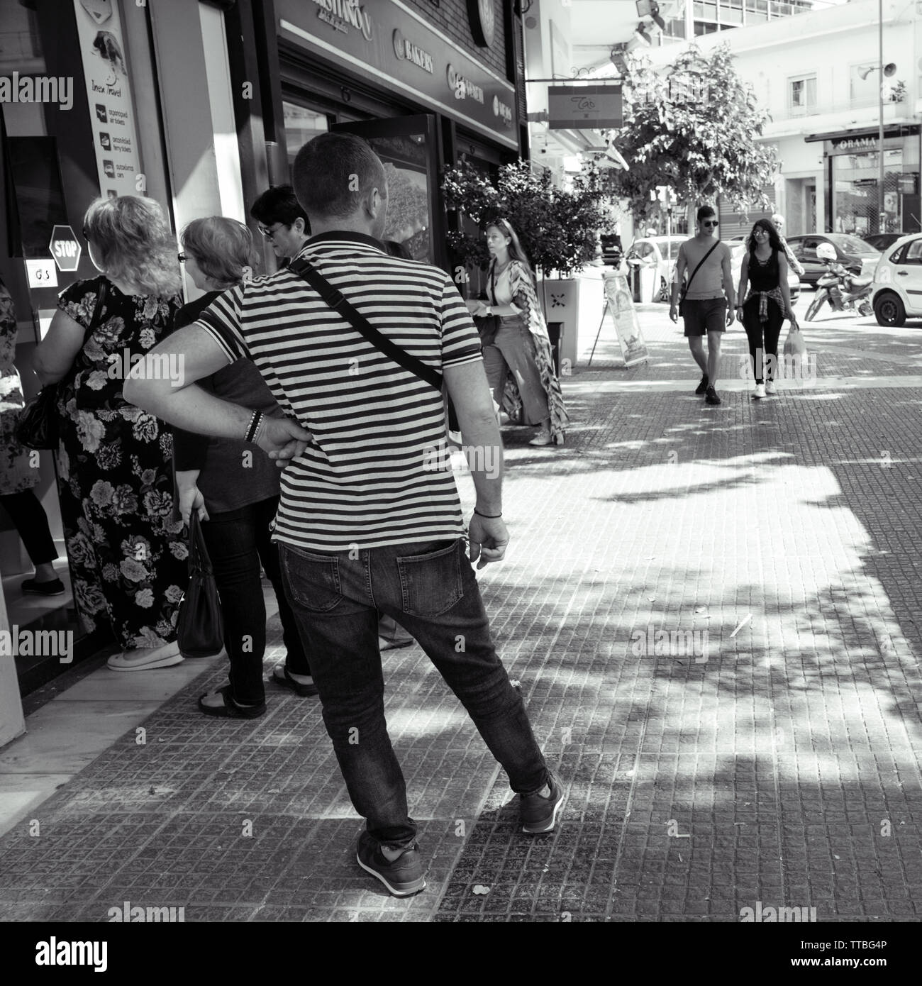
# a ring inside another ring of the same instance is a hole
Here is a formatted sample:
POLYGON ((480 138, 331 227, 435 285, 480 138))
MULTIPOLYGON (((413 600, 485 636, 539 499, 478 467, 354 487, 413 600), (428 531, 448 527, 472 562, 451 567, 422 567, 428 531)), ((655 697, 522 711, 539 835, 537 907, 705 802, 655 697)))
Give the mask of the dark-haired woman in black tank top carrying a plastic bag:
POLYGON ((747 250, 740 269, 737 317, 749 340, 749 358, 755 377, 753 398, 776 392, 778 337, 785 317, 797 319, 791 309, 788 261, 778 231, 771 220, 760 219, 746 240, 747 250), (745 294, 746 281, 749 284, 745 294))

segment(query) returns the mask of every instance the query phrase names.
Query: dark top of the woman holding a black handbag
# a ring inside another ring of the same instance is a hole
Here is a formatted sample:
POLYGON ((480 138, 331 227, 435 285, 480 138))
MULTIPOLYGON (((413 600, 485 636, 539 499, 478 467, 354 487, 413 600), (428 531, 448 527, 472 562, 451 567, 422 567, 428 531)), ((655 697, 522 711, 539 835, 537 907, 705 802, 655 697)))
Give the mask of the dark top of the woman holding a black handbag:
MULTIPOLYGON (((220 294, 212 291, 184 305, 177 312, 175 327, 191 325, 220 294)), ((249 360, 238 360, 196 384, 232 404, 282 416, 275 397, 249 360)), ((226 514, 279 495, 278 466, 251 443, 175 428, 174 457, 177 469, 200 470, 197 485, 209 514, 226 514)))

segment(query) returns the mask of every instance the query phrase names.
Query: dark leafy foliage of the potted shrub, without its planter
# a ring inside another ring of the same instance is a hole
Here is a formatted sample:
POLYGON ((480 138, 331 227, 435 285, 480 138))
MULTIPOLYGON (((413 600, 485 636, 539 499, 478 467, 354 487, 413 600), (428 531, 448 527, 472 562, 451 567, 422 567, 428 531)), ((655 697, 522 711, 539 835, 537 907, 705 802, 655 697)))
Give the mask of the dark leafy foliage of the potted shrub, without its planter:
POLYGON ((572 187, 560 188, 549 171, 532 171, 527 161, 504 165, 495 179, 462 161, 445 175, 443 189, 449 208, 472 221, 449 234, 449 246, 465 264, 486 264, 483 231, 502 218, 536 268, 567 277, 595 258, 598 234, 610 225, 599 173, 592 168, 574 176, 572 187))

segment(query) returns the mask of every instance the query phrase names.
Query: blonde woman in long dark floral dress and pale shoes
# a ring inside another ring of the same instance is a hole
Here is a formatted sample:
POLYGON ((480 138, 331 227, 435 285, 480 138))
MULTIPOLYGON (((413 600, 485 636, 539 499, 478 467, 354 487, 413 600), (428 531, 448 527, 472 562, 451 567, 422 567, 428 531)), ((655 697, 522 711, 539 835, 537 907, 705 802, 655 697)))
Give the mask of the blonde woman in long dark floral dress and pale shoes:
POLYGON ((103 276, 61 292, 35 350, 41 383, 59 385, 61 517, 74 598, 88 631, 111 625, 123 650, 109 668, 165 668, 182 660, 177 608, 188 582, 182 522, 174 520, 173 436, 129 404, 122 386, 173 328, 176 243, 157 203, 133 195, 94 202, 84 237, 103 276))

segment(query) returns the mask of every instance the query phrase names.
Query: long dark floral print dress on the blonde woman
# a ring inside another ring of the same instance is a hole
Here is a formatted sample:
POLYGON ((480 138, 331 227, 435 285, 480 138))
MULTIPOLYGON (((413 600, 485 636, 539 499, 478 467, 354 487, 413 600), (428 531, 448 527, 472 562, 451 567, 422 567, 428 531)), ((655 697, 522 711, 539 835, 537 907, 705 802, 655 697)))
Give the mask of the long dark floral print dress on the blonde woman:
MULTIPOLYGON (((104 280, 72 284, 58 308, 89 328, 104 280)), ((132 357, 171 331, 179 305, 124 295, 109 281, 98 327, 58 385, 61 518, 77 611, 88 632, 107 619, 125 650, 176 640, 188 582, 174 520, 173 435, 122 396, 132 357)))

